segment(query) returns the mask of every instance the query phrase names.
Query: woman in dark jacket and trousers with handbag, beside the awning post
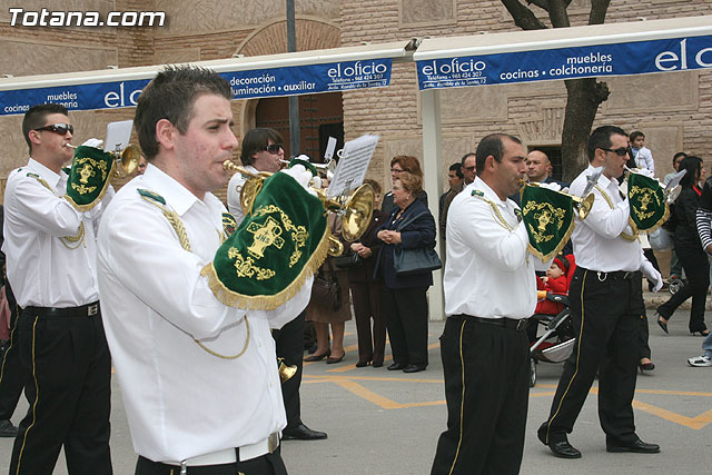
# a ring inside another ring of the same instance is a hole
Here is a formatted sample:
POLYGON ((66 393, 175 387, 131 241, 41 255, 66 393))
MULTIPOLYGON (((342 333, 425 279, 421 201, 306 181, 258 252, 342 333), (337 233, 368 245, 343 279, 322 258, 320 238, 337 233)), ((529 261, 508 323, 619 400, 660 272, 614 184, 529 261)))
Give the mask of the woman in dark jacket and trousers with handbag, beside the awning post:
POLYGON ((403 249, 434 248, 435 219, 417 196, 423 179, 403 171, 393 185, 395 208, 377 238, 384 243, 378 254, 376 273, 383 276, 382 311, 390 338, 394 363, 389 370, 422 372, 427 367, 427 298, 433 274, 398 276, 394 268, 396 247, 403 249), (405 226, 403 226, 405 224, 405 226))

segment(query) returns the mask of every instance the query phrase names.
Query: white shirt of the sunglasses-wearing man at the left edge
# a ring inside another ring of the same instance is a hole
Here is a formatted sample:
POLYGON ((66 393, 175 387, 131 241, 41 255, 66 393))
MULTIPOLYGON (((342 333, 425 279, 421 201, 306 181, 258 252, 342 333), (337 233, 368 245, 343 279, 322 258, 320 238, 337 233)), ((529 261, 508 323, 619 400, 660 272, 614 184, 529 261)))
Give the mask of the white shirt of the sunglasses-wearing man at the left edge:
POLYGON ((110 200, 80 212, 61 198, 67 192, 67 174, 55 171, 30 158, 26 167, 10 172, 4 192, 4 244, 8 279, 18 305, 79 307, 99 299, 96 266, 96 225, 110 200), (38 175, 48 189, 31 175, 38 175), (83 224, 83 241, 77 236, 83 224))

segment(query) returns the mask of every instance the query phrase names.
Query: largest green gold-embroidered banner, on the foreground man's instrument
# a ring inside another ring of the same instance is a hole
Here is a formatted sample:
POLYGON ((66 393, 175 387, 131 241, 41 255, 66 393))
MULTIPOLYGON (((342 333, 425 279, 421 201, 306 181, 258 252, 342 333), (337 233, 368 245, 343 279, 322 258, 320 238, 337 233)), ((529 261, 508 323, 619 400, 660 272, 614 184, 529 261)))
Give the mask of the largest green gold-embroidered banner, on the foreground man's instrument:
POLYGON ((274 309, 293 297, 328 250, 322 201, 286 174, 265 179, 253 212, 202 269, 229 306, 274 309))

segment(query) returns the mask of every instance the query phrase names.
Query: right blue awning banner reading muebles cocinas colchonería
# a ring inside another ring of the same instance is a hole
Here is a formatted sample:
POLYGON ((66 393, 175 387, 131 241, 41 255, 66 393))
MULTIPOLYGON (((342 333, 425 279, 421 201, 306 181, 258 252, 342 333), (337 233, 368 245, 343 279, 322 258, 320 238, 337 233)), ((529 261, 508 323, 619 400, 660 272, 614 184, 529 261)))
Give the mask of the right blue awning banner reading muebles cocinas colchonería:
POLYGON ((712 36, 416 61, 421 90, 712 68, 712 36))

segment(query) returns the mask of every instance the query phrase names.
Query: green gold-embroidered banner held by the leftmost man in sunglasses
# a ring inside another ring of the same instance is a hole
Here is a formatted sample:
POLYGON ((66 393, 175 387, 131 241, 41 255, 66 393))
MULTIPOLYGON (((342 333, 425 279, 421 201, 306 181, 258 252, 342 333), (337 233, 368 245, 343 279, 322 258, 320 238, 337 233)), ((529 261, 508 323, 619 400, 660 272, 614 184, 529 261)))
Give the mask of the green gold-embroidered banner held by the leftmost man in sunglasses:
POLYGON ((93 208, 103 198, 113 167, 110 154, 95 147, 77 147, 67 181, 67 200, 80 211, 93 208))

